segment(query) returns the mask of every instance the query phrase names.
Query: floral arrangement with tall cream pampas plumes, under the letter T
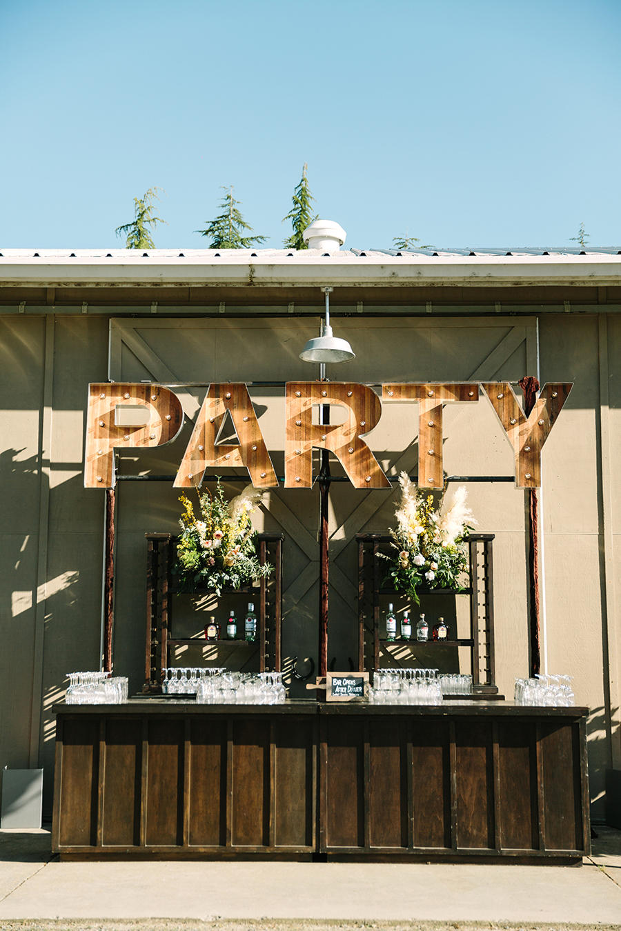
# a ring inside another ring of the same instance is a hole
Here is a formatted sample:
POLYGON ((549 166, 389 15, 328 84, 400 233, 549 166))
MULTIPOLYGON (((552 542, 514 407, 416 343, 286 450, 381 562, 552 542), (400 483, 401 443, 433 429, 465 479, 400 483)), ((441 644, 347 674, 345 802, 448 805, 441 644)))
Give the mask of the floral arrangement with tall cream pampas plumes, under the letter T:
POLYGON ((417 589, 458 590, 460 575, 466 571, 464 538, 477 521, 466 506, 466 488, 458 486, 452 495, 442 495, 439 507, 433 494, 425 494, 401 472, 398 483, 401 500, 395 510, 397 527, 390 529, 394 554, 378 553, 390 562, 388 576, 397 591, 408 592, 419 604, 417 589))

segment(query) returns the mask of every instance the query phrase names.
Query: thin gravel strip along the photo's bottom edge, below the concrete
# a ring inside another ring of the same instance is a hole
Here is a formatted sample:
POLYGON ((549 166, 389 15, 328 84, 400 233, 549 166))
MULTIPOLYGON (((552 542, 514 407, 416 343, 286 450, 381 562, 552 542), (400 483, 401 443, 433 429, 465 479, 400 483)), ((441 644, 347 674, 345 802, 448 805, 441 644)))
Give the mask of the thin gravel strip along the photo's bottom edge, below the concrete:
POLYGON ((2 921, 0 931, 621 931, 621 924, 343 921, 2 921))

